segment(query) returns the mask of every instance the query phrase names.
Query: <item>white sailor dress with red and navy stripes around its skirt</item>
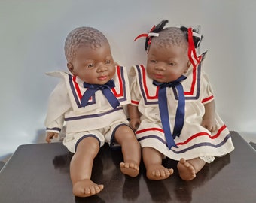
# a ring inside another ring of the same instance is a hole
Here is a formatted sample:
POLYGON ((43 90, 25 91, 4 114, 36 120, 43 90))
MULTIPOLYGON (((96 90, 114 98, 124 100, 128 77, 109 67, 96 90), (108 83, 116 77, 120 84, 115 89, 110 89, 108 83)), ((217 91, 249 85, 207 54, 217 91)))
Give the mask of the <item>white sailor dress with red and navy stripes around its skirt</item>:
MULTIPOLYGON (((217 129, 209 132, 201 126, 204 105, 214 97, 209 80, 201 70, 201 62, 189 68, 181 82, 184 89, 184 125, 179 136, 174 138, 176 146, 167 147, 158 106, 158 87, 146 74, 143 65, 135 65, 130 70, 133 77, 130 83, 131 103, 142 114, 136 137, 142 147, 152 147, 170 159, 194 159, 197 157, 224 156, 234 147, 230 132, 218 114, 215 115, 217 129)), ((178 95, 175 88, 166 88, 170 130, 175 123, 178 95)))

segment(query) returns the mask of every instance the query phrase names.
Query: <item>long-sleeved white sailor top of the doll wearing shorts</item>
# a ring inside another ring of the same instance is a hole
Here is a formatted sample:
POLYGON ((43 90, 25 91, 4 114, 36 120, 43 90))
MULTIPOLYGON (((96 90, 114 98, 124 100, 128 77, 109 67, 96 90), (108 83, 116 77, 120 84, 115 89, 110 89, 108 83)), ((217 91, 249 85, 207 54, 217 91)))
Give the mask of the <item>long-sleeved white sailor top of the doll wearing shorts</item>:
POLYGON ((125 67, 117 66, 112 78, 114 88, 111 92, 120 103, 116 108, 110 105, 100 90, 96 91, 83 106, 81 99, 87 91, 87 88, 84 88, 84 81, 62 71, 51 72, 48 75, 62 80, 49 98, 45 119, 47 132, 59 132, 63 123, 66 124, 67 135, 106 128, 113 123, 127 123, 123 105, 130 103, 130 88, 125 67))

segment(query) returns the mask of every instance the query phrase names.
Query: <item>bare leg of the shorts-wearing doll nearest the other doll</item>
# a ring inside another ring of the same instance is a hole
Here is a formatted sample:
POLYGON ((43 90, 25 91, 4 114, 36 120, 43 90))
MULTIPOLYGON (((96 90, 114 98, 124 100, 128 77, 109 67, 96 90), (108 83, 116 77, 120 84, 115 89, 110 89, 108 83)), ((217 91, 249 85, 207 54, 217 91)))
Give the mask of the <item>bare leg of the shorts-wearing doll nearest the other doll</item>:
POLYGON ((114 138, 122 147, 123 162, 120 162, 120 170, 123 174, 136 177, 139 174, 141 147, 133 130, 126 125, 120 126, 116 130, 114 138))

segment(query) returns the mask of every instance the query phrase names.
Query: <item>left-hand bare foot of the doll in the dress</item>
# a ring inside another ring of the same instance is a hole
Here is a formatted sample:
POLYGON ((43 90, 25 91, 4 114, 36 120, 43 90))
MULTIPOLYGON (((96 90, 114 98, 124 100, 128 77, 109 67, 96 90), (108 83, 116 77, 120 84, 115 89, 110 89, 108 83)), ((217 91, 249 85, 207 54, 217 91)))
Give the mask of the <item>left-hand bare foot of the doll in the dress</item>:
POLYGON ((163 165, 151 165, 147 168, 147 177, 150 180, 163 180, 173 174, 172 168, 165 168, 163 165))

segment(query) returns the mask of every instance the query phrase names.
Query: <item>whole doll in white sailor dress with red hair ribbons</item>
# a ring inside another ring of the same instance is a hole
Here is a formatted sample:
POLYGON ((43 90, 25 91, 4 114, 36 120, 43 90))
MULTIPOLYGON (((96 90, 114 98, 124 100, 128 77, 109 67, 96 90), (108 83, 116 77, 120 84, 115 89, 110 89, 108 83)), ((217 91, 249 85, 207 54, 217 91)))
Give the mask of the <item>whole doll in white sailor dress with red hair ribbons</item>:
MULTIPOLYGON (((234 147, 227 126, 215 113, 209 79, 202 70, 205 53, 197 56, 201 36, 191 28, 154 26, 146 37, 147 65, 130 70, 130 126, 142 146, 151 180, 173 173, 162 159, 178 161, 183 180, 193 180, 206 162, 224 156, 234 147)), ((136 39, 137 39, 136 38, 136 39)))

